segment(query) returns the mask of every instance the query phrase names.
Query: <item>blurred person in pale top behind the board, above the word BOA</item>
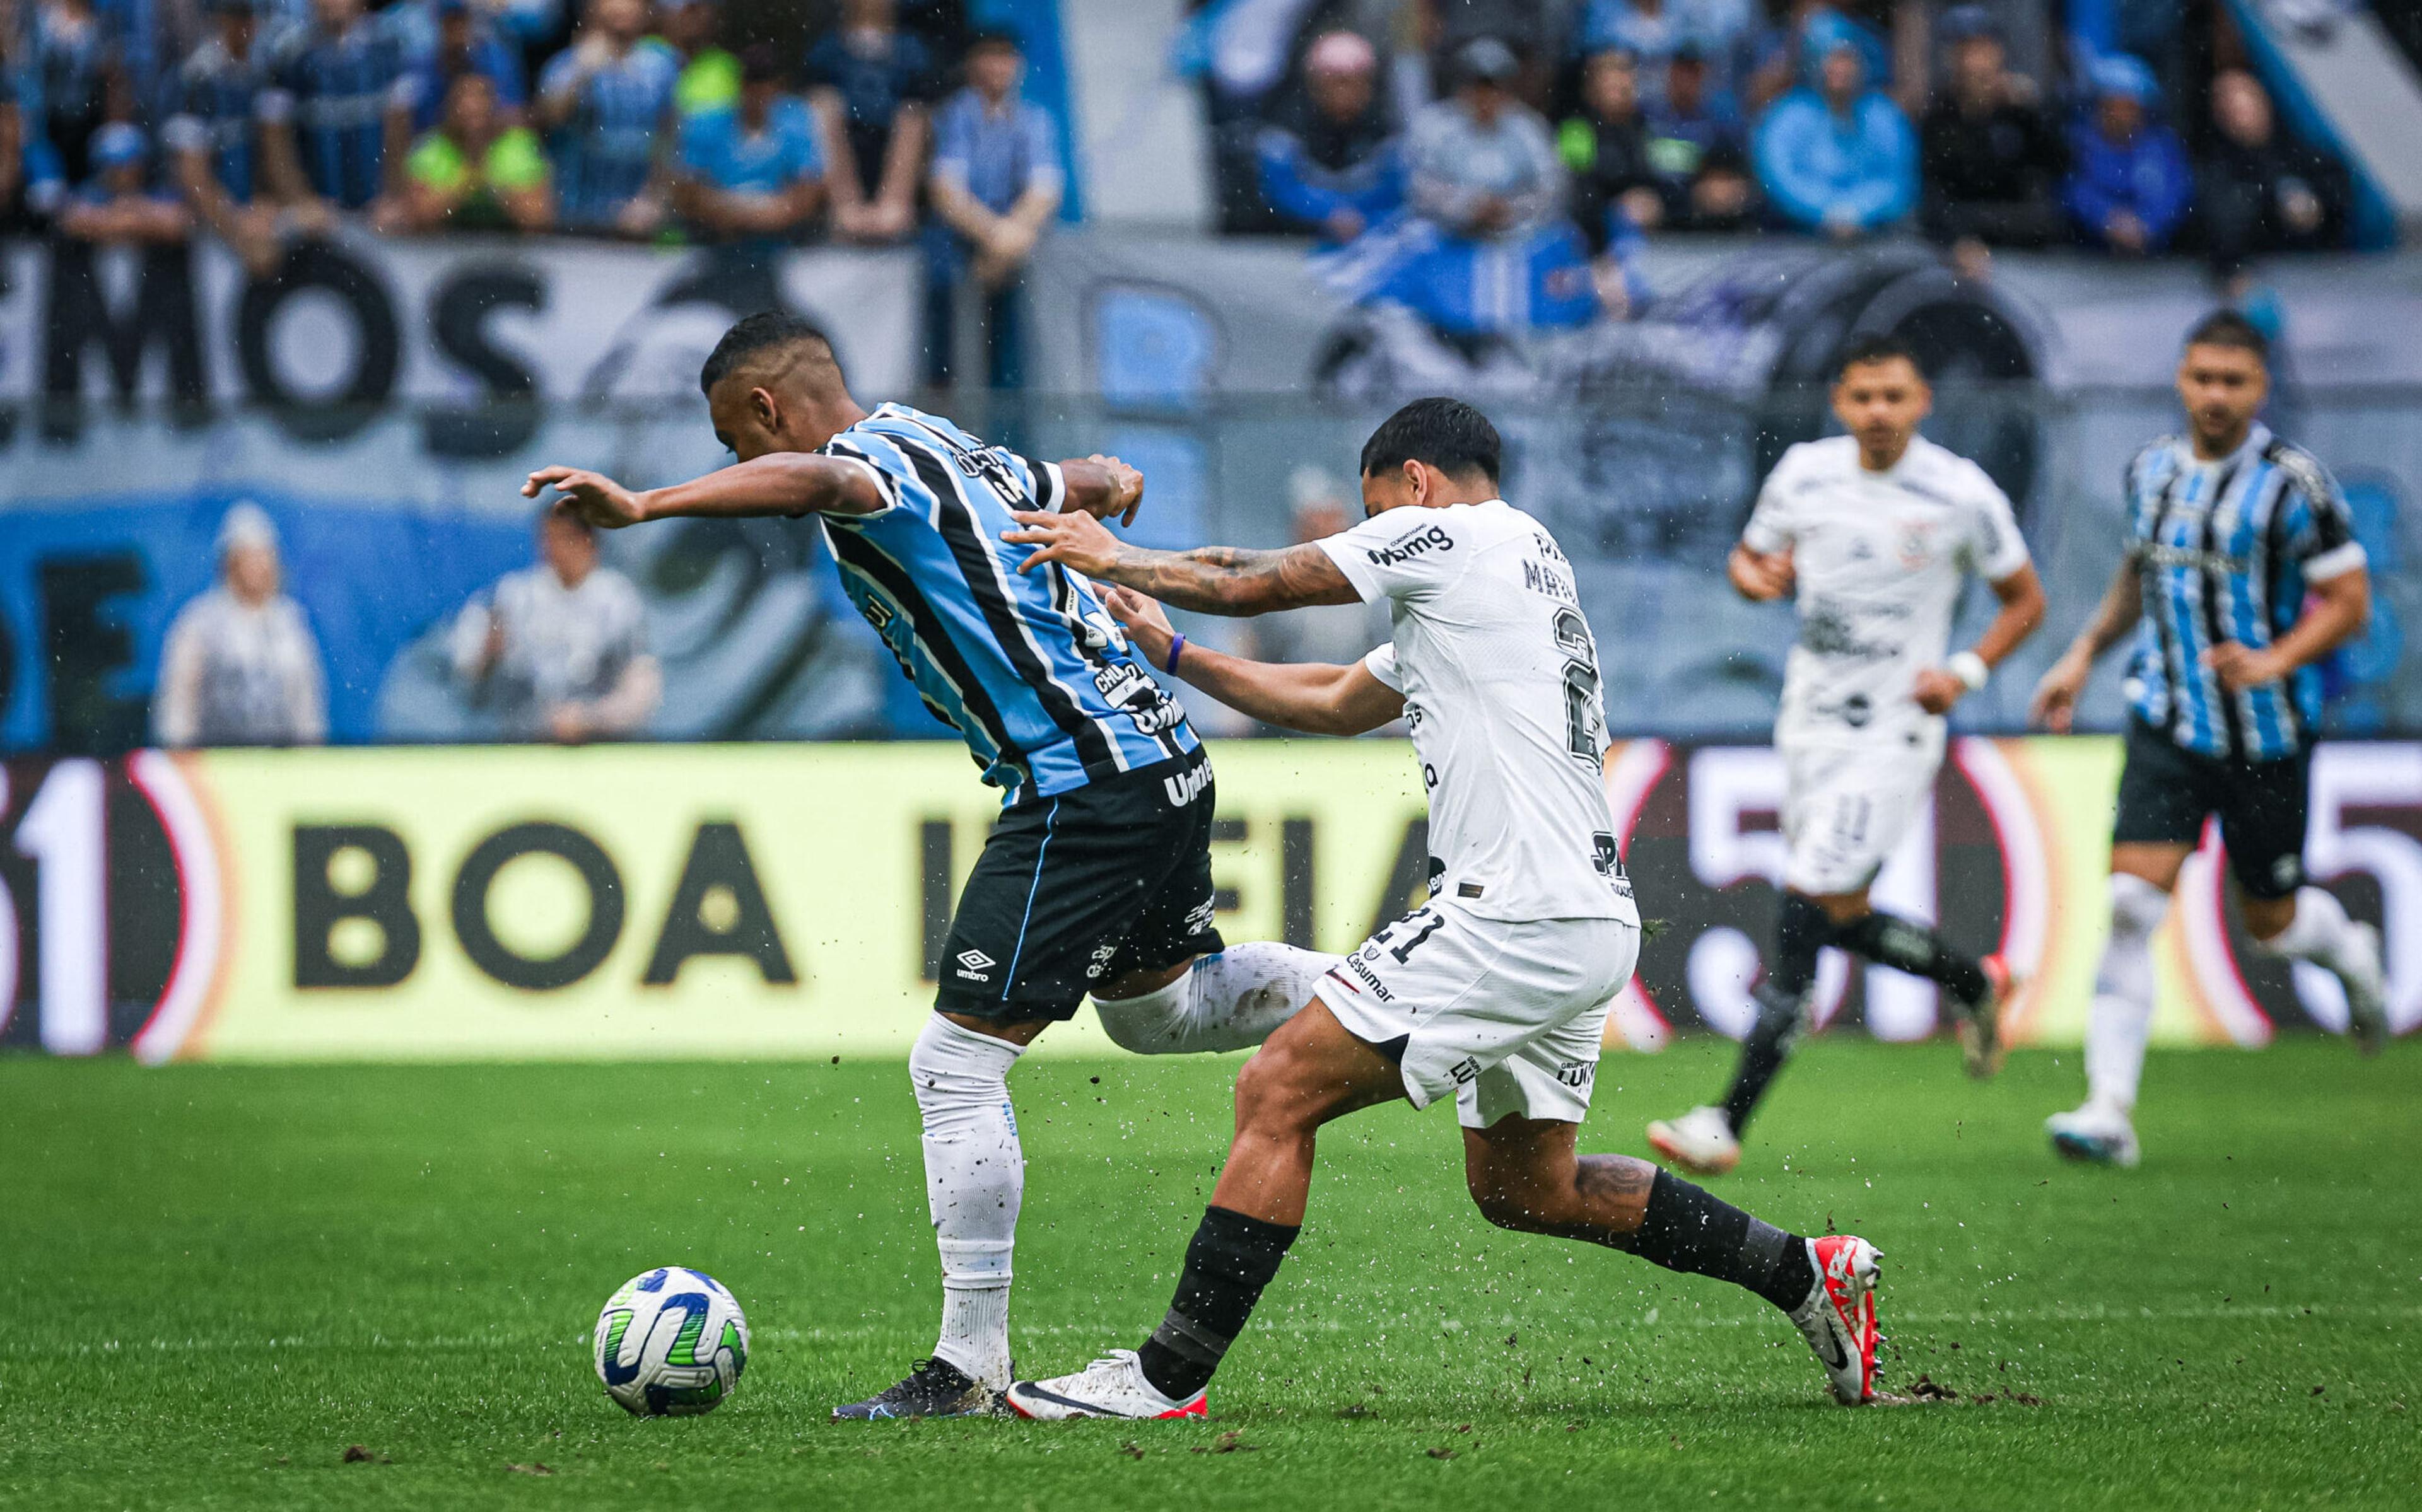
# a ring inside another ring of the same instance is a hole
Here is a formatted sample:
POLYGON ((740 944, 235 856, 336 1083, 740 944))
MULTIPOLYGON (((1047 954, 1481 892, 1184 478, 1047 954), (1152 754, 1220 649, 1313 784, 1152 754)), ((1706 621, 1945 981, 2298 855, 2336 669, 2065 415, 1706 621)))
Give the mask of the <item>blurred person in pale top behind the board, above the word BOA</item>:
POLYGON ((540 514, 538 555, 455 615, 455 676, 509 739, 639 732, 664 691, 639 589, 598 565, 596 531, 579 516, 540 514))

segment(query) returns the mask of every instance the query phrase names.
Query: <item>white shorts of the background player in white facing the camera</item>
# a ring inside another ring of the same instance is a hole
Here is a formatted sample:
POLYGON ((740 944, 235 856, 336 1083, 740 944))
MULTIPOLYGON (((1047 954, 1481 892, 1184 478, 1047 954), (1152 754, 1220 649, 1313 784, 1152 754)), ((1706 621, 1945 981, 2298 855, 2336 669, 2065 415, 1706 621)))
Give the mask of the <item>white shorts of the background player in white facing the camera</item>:
POLYGON ((1935 797, 1942 744, 1783 746, 1783 884, 1860 892, 1935 797))

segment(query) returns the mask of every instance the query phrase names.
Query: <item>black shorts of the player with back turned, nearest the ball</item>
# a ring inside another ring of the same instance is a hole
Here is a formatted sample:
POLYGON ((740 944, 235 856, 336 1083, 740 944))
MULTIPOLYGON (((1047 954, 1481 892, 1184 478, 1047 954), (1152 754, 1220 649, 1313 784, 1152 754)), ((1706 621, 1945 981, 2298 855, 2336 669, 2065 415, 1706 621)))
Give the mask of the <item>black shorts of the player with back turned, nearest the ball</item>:
POLYGON ((1213 804, 1201 751, 1010 804, 959 894, 935 1008, 1075 1018, 1095 981, 1223 950, 1213 804))

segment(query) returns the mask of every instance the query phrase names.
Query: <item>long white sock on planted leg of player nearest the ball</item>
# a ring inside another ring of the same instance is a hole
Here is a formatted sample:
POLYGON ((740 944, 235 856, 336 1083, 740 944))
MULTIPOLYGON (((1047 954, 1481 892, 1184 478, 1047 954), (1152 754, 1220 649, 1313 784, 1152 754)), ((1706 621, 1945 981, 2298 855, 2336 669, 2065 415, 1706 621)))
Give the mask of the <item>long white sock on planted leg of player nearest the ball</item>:
POLYGON ((942 1250, 942 1335, 932 1354, 986 1386, 1010 1384, 1010 1250, 1027 1156, 1008 1078, 1022 1054, 1022 1044, 962 1030, 940 1013, 908 1052, 925 1117, 925 1207, 942 1250))

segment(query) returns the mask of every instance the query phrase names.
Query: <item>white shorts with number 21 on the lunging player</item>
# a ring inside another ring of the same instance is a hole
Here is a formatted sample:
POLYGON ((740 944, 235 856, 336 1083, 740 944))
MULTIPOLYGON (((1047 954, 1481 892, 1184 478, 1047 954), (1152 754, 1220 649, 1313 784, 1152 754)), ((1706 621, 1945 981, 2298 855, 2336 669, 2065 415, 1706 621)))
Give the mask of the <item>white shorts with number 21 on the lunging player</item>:
POLYGON ((1465 1129, 1506 1115, 1582 1122, 1606 1006, 1632 979, 1640 926, 1506 923, 1429 904, 1371 935, 1315 989, 1349 1035, 1397 1054, 1405 1095, 1456 1095, 1465 1129))

